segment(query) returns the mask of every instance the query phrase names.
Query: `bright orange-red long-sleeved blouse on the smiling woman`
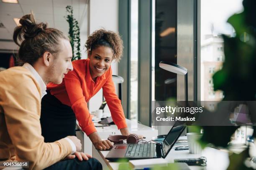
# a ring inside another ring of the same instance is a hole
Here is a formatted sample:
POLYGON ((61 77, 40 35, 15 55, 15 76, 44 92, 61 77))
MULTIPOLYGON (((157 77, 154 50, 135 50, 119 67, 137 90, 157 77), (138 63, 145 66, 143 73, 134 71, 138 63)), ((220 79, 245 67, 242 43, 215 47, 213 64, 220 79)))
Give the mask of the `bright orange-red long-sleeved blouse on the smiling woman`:
POLYGON ((90 135, 97 130, 92 122, 87 102, 102 88, 115 125, 118 129, 126 128, 123 107, 115 94, 111 67, 94 82, 90 75, 89 61, 90 59, 73 61, 74 70, 65 75, 63 82, 59 85, 49 83, 47 89, 64 105, 72 107, 79 126, 90 135))

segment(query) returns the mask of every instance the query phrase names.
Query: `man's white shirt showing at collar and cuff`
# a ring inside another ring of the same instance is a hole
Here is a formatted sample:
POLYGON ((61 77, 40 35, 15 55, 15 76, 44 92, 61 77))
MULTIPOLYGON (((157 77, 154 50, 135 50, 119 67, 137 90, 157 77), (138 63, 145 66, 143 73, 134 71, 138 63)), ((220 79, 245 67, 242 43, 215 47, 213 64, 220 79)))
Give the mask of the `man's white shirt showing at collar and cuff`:
MULTIPOLYGON (((26 69, 31 71, 31 73, 35 77, 35 79, 38 82, 38 84, 40 86, 40 89, 41 89, 41 96, 42 96, 41 99, 42 99, 44 97, 44 95, 47 94, 47 92, 46 92, 46 84, 44 83, 44 80, 38 74, 38 72, 34 69, 34 67, 31 64, 29 64, 28 62, 26 62, 22 67, 25 67, 26 69)), ((76 145, 69 138, 66 137, 65 139, 69 142, 69 144, 72 147, 72 153, 71 154, 75 153, 75 151, 77 150, 76 145)))

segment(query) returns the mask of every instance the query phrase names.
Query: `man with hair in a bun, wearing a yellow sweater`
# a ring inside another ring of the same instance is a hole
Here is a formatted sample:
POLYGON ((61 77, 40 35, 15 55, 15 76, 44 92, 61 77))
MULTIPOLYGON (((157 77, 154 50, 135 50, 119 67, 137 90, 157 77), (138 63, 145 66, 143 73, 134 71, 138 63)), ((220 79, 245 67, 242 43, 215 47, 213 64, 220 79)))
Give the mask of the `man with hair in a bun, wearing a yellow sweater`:
POLYGON ((0 72, 0 160, 29 161, 29 169, 35 170, 102 169, 96 159, 79 152, 82 145, 77 137, 44 143, 41 135, 46 84, 60 84, 73 70, 67 36, 44 23, 36 24, 29 14, 20 19, 13 40, 24 64, 0 72))

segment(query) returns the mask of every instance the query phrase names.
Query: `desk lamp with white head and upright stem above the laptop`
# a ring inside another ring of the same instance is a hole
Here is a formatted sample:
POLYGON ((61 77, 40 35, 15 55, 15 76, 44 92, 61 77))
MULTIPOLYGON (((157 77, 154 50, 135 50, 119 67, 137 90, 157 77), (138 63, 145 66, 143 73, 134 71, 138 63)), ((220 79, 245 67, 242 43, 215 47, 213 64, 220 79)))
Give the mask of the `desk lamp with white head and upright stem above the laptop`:
POLYGON ((187 68, 182 67, 180 65, 174 64, 172 62, 166 62, 166 61, 161 61, 159 62, 159 67, 161 67, 164 70, 167 70, 169 72, 174 72, 179 75, 184 75, 185 76, 185 101, 188 101, 188 92, 187 92, 187 68))

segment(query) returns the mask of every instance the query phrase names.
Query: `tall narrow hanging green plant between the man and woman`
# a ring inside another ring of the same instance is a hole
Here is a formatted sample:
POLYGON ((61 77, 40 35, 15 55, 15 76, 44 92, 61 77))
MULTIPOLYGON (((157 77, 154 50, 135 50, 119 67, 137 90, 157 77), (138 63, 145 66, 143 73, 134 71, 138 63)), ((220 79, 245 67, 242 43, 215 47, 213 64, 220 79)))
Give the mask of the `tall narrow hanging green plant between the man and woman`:
POLYGON ((80 28, 77 20, 74 18, 74 15, 73 15, 73 7, 68 5, 66 7, 66 10, 67 10, 67 16, 65 16, 64 18, 69 23, 69 39, 70 39, 70 44, 73 52, 72 61, 79 60, 81 59, 80 28))

